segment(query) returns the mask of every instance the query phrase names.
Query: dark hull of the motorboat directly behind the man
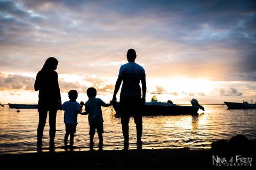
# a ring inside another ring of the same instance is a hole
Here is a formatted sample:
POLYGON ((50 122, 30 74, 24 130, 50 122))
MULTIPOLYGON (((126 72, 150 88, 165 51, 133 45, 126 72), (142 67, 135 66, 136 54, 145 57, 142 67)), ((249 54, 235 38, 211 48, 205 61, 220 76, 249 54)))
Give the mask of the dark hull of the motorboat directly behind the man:
MULTIPOLYGON (((116 115, 120 115, 120 104, 113 105, 116 115)), ((198 114, 198 106, 169 105, 167 103, 146 103, 142 115, 183 115, 198 114)))

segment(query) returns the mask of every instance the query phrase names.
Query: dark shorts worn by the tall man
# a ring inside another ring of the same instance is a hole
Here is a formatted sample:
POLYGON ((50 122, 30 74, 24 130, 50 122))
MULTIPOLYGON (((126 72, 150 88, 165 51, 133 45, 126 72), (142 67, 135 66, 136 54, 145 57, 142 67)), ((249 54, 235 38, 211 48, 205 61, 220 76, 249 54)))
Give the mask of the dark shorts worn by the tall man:
POLYGON ((133 116, 134 123, 142 123, 142 105, 140 97, 120 97, 121 123, 129 123, 130 116, 133 116))

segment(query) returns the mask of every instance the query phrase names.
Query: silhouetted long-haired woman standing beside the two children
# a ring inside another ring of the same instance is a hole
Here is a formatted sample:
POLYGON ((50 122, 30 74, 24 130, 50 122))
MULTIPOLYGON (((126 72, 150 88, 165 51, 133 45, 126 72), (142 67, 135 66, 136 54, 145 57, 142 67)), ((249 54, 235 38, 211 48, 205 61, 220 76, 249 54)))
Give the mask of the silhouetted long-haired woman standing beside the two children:
POLYGON ((38 113, 39 122, 37 128, 37 147, 42 147, 44 126, 47 112, 49 112, 50 147, 54 146, 56 132, 56 115, 61 107, 58 73, 55 72, 58 60, 54 57, 47 58, 41 71, 36 75, 35 90, 39 90, 38 113))

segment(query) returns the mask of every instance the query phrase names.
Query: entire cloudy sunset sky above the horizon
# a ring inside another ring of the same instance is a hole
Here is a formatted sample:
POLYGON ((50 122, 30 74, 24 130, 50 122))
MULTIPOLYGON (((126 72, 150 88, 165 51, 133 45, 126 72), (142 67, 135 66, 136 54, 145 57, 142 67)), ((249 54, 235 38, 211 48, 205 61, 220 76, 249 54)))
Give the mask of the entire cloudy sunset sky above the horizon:
POLYGON ((0 101, 37 103, 36 74, 59 61, 62 102, 95 87, 106 103, 134 48, 147 101, 256 101, 255 1, 1 1, 0 101))

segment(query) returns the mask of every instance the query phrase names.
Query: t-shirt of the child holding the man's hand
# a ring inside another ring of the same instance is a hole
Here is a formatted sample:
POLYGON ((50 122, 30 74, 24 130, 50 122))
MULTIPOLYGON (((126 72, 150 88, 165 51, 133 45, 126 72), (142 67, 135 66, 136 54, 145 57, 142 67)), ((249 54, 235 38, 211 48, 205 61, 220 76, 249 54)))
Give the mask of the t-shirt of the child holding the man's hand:
POLYGON ((85 103, 85 111, 89 113, 88 121, 89 124, 103 123, 101 106, 105 106, 106 103, 98 98, 90 98, 85 103))

